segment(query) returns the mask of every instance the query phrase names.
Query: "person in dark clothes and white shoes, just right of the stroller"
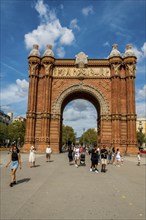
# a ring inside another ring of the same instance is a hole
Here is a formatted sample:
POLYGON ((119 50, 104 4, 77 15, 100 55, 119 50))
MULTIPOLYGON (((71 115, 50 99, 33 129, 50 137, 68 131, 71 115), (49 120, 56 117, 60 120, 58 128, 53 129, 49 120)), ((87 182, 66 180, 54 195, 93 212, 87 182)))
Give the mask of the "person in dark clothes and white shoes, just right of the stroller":
POLYGON ((90 171, 98 173, 97 165, 98 165, 98 151, 97 151, 97 147, 94 147, 92 149, 92 151, 91 151, 91 167, 90 167, 90 171))

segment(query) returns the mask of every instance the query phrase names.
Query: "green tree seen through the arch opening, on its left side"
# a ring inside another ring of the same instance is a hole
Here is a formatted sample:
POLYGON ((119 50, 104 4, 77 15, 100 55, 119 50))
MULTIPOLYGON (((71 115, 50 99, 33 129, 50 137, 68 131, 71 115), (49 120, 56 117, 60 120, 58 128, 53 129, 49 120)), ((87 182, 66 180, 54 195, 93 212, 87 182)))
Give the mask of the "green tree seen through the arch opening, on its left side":
POLYGON ((76 133, 74 129, 70 126, 62 126, 62 143, 66 145, 70 145, 75 143, 76 140, 76 133))

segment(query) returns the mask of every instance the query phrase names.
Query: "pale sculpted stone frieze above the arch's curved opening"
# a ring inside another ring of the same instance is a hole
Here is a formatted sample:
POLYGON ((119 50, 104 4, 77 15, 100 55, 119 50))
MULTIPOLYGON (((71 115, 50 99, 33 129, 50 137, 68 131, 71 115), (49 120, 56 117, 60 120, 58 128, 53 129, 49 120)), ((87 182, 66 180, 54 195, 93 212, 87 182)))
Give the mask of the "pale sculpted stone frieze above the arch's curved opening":
POLYGON ((53 70, 54 77, 110 77, 110 68, 70 68, 70 67, 55 67, 53 70))

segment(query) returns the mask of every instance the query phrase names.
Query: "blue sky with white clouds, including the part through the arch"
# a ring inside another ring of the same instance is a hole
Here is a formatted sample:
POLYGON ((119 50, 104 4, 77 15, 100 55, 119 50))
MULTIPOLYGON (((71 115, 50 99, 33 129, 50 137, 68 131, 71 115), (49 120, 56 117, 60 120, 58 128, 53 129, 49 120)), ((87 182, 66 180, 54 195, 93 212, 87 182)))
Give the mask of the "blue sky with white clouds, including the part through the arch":
MULTIPOLYGON (((56 58, 107 58, 112 45, 123 54, 131 43, 138 58, 136 111, 146 117, 146 1, 145 0, 1 0, 1 109, 14 117, 27 111, 28 62, 34 43, 43 54, 53 45, 56 58)), ((81 135, 96 127, 90 102, 75 100, 63 113, 64 123, 81 135)))

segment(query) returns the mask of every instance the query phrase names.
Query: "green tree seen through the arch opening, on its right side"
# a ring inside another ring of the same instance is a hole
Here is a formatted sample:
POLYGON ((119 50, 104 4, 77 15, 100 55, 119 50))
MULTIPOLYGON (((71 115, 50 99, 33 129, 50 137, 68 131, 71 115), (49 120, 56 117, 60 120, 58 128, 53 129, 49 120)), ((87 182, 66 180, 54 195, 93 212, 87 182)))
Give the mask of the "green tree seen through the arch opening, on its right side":
POLYGON ((97 132, 95 131, 95 129, 90 128, 86 132, 84 132, 80 137, 79 143, 82 145, 97 145, 97 132))

